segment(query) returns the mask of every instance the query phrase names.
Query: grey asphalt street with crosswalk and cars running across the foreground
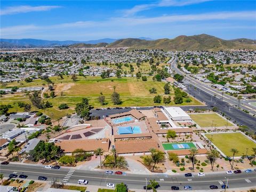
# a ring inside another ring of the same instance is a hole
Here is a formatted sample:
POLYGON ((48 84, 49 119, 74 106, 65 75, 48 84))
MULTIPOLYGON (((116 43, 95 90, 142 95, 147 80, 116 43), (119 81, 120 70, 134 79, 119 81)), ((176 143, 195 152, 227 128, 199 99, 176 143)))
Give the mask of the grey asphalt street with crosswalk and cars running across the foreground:
POLYGON ((47 177, 47 181, 53 178, 62 181, 69 174, 68 183, 77 183, 78 179, 85 179, 89 181, 90 185, 105 186, 107 183, 121 183, 124 182, 131 189, 142 189, 146 184, 146 178, 155 179, 160 187, 158 189, 170 190, 171 186, 179 186, 180 189, 185 185, 189 185, 193 190, 209 190, 210 185, 217 185, 221 187, 222 182, 227 182, 229 188, 241 187, 255 187, 256 171, 252 173, 242 172, 241 174, 226 174, 226 173, 205 173, 204 177, 198 177, 197 174, 193 177, 186 178, 183 174, 167 175, 141 175, 141 174, 124 174, 124 175, 107 175, 101 171, 85 171, 75 170, 70 167, 61 167, 60 170, 45 169, 42 165, 17 165, 10 163, 9 165, 1 165, 1 173, 4 177, 9 177, 9 174, 28 175, 27 179, 37 180, 38 176, 47 177), (74 170, 70 174, 70 170, 74 170))

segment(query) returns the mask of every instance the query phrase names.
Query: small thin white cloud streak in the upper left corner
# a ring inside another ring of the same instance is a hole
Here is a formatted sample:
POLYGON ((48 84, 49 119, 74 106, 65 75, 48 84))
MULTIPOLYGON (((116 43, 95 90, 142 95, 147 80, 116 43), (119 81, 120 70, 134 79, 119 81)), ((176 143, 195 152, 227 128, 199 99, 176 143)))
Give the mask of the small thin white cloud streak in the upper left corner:
POLYGON ((35 12, 35 11, 49 11, 59 7, 60 6, 29 6, 29 5, 12 6, 12 7, 6 7, 6 9, 1 10, 1 15, 28 13, 28 12, 35 12))

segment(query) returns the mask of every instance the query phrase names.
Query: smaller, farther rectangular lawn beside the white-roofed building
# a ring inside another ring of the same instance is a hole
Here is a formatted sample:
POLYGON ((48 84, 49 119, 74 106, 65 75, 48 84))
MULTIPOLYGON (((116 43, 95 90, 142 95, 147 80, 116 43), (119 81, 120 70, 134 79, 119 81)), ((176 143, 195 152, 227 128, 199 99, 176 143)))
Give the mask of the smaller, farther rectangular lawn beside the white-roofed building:
POLYGON ((212 114, 191 114, 189 115, 193 121, 195 121, 201 127, 222 127, 222 126, 234 126, 225 118, 220 117, 216 113, 212 114))

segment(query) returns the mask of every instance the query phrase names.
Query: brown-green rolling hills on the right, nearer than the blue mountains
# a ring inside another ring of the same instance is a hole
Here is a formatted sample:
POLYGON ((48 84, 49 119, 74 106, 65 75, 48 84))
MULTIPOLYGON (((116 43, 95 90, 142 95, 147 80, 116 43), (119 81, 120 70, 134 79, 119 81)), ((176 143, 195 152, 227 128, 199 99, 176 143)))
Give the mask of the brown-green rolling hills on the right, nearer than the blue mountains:
POLYGON ((126 38, 110 43, 107 47, 129 47, 130 49, 164 49, 164 50, 226 50, 256 49, 256 41, 252 39, 224 40, 211 35, 181 35, 174 39, 157 39, 146 41, 126 38))

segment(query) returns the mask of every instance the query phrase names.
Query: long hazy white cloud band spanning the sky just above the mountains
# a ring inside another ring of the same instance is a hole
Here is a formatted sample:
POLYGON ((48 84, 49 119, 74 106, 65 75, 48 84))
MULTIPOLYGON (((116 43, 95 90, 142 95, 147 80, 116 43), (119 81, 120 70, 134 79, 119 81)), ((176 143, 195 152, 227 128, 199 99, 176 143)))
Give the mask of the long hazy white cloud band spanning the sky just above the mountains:
MULTIPOLYGON (((214 25, 212 22, 205 23, 204 21, 214 21, 214 22, 225 21, 225 23, 226 21, 231 21, 231 20, 254 21, 255 15, 256 15, 256 11, 211 12, 211 13, 202 13, 202 14, 163 15, 161 17, 150 17, 150 18, 146 18, 146 17, 110 18, 105 21, 77 21, 77 22, 70 22, 70 23, 60 23, 58 25, 49 25, 49 26, 35 26, 35 25, 12 26, 12 27, 1 28, 1 36, 2 38, 18 38, 18 37, 32 38, 35 35, 37 35, 38 38, 40 38, 39 36, 42 37, 44 35, 46 36, 49 35, 50 37, 50 36, 55 36, 57 34, 62 34, 63 36, 66 36, 67 34, 68 35, 76 34, 79 36, 83 36, 86 34, 88 36, 93 36, 97 33, 105 34, 105 35, 117 34, 118 32, 121 33, 120 31, 122 31, 122 33, 124 34, 132 34, 132 33, 138 33, 138 31, 140 30, 152 31, 152 34, 154 33, 158 34, 157 31, 159 30, 159 27, 163 29, 165 28, 165 26, 173 26, 173 30, 174 30, 175 26, 182 25, 182 26, 187 26, 187 29, 190 31, 190 30, 197 29, 198 26, 202 27, 207 24, 212 26, 213 28, 216 28, 216 27, 219 27, 218 26, 219 24, 214 25), (191 27, 191 25, 193 27, 191 27), (113 33, 113 31, 115 31, 115 33, 113 33), (153 31, 155 32, 153 33, 153 31)), ((225 23, 223 23, 223 25, 225 23)), ((229 25, 227 26, 227 28, 232 28, 232 26, 233 26, 232 22, 229 22, 229 25)), ((234 26, 234 27, 237 28, 237 26, 234 26)), ((241 27, 243 27, 243 25, 241 27)), ((129 35, 126 35, 126 36, 129 36, 129 35)))

